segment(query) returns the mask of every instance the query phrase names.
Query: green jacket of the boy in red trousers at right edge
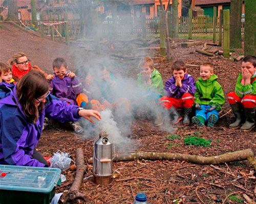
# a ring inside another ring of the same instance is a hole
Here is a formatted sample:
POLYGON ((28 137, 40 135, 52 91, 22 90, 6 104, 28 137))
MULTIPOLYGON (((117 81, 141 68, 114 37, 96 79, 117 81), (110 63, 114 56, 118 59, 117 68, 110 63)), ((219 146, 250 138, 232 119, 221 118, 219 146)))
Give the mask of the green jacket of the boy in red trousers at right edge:
POLYGON ((256 72, 251 77, 251 83, 247 85, 242 85, 242 73, 239 73, 235 92, 238 97, 243 98, 245 95, 256 95, 256 72))

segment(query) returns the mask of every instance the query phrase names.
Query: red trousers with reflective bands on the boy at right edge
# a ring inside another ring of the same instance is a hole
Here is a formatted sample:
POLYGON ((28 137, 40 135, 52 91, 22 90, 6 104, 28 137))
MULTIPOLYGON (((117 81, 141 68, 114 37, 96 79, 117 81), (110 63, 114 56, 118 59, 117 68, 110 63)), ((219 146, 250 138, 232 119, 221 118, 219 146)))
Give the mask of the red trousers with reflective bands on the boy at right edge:
POLYGON ((238 97, 236 92, 227 94, 229 104, 242 104, 244 108, 254 108, 256 106, 256 95, 245 95, 243 98, 238 97))

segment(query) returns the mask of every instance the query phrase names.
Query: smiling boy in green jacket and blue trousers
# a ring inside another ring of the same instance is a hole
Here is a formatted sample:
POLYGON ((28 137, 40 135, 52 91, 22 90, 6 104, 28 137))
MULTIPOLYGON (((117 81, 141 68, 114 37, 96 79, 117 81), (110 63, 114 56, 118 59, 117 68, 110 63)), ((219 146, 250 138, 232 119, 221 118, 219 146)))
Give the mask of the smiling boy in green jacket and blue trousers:
POLYGON ((203 63, 200 66, 200 78, 196 82, 195 107, 196 116, 192 122, 198 126, 214 126, 218 121, 219 111, 225 102, 222 86, 217 82, 214 65, 203 63))

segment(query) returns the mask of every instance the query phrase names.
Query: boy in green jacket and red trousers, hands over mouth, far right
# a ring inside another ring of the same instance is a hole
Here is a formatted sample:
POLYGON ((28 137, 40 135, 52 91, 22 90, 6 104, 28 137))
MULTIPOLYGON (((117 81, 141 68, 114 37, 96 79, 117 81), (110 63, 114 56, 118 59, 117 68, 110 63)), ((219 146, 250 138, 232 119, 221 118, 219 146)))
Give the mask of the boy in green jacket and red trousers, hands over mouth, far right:
POLYGON ((242 61, 234 92, 227 95, 228 103, 236 116, 231 129, 250 131, 255 126, 256 109, 256 57, 247 56, 242 61), (244 122, 245 121, 245 122, 244 122))

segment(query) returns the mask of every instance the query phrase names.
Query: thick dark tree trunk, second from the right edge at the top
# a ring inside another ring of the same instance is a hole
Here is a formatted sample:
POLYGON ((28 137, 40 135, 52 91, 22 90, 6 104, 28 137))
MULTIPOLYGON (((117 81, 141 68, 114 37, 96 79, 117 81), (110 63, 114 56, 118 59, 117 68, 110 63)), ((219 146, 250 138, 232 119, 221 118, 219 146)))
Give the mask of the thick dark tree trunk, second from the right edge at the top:
MULTIPOLYGON (((255 4, 255 2, 254 2, 255 4)), ((231 0, 230 4, 230 46, 242 48, 241 16, 242 0, 231 0)))

